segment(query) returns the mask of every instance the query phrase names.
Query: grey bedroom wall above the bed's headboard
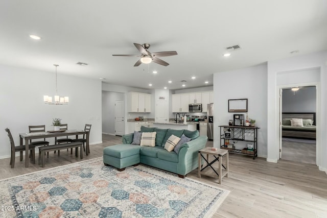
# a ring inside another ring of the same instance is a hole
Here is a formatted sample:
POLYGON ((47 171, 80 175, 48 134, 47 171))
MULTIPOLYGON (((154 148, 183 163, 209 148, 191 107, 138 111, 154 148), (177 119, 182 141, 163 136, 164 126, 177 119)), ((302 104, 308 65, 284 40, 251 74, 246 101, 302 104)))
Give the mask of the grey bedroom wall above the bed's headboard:
POLYGON ((316 112, 316 104, 315 86, 300 87, 295 94, 290 88, 283 89, 283 113, 316 112))

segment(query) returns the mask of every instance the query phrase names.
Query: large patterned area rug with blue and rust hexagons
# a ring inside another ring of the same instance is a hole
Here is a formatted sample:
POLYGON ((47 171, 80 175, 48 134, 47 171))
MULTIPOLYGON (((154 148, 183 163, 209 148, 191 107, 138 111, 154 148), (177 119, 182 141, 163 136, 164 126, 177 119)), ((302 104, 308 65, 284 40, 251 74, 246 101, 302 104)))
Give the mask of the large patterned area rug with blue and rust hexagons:
POLYGON ((102 158, 0 181, 0 217, 211 217, 229 191, 102 158))

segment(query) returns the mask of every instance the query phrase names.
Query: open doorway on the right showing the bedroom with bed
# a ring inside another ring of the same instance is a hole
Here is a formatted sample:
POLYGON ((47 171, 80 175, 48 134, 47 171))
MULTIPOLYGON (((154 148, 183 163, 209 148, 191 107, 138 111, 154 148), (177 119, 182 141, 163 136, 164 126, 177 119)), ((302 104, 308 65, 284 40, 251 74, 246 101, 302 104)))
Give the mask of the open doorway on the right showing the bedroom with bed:
POLYGON ((279 158, 316 164, 317 87, 292 85, 279 93, 279 158))

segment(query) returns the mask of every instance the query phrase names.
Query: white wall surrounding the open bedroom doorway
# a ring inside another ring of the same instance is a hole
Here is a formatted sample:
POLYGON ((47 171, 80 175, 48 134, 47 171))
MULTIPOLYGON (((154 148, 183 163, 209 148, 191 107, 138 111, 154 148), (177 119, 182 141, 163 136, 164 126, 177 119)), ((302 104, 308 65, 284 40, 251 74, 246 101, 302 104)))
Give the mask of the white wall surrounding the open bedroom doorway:
MULTIPOLYGON (((278 148, 278 87, 277 87, 277 75, 287 71, 298 71, 301 73, 303 70, 318 68, 320 69, 320 86, 318 89, 317 99, 320 99, 320 106, 317 108, 321 112, 321 115, 317 114, 317 125, 320 128, 317 129, 317 143, 320 140, 321 144, 318 147, 317 154, 319 155, 317 165, 320 170, 327 171, 327 140, 326 134, 326 85, 327 85, 327 51, 313 53, 309 55, 301 55, 290 57, 281 60, 268 62, 268 157, 267 161, 276 162, 279 159, 278 148)), ((308 82, 315 80, 315 74, 312 77, 307 78, 308 82)), ((293 77, 296 78, 296 77, 293 77)))

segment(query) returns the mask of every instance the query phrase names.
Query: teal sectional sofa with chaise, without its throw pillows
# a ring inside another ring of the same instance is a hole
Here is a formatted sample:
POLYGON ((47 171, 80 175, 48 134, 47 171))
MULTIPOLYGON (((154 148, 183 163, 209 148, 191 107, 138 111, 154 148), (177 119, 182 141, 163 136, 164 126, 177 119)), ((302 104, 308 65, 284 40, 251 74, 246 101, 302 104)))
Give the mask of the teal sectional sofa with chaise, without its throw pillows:
POLYGON ((143 163, 178 174, 184 178, 189 172, 198 167, 198 151, 205 147, 206 136, 199 136, 199 131, 173 130, 141 127, 141 132, 156 132, 155 146, 138 146, 131 144, 133 133, 123 135, 123 143, 109 146, 103 150, 103 162, 105 165, 116 167, 123 171, 125 167, 143 163), (179 153, 167 151, 165 143, 171 135, 181 137, 185 135, 192 138, 183 143, 179 153))

